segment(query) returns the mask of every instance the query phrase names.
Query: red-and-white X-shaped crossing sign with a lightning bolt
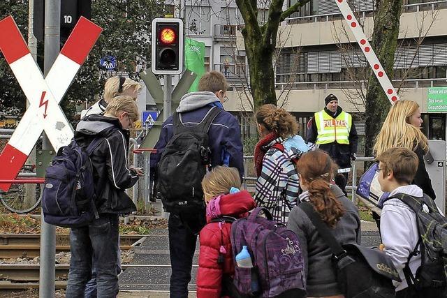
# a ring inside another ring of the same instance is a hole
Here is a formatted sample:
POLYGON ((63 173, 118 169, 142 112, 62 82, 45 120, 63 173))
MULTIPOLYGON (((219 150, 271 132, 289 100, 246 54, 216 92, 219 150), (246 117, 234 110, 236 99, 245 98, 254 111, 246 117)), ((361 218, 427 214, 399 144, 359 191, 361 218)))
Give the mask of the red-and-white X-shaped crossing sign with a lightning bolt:
MULTIPOLYGON (((0 179, 14 179, 45 131, 54 150, 69 144, 73 128, 59 106, 79 68, 101 34, 81 17, 44 78, 13 17, 0 21, 0 50, 29 101, 29 107, 0 154, 0 179)), ((0 184, 8 191, 10 184, 0 184)))

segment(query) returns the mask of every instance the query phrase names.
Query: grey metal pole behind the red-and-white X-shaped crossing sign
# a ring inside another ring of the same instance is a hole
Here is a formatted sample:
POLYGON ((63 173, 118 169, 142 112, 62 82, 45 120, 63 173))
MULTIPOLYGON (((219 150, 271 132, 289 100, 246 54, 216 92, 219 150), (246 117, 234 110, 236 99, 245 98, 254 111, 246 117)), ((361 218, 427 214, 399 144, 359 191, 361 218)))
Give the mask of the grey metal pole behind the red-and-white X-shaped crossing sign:
MULTIPOLYGON (((45 1, 45 52, 44 52, 44 73, 45 76, 50 68, 60 48, 60 20, 61 20, 61 0, 45 1)), ((50 142, 43 134, 42 149, 51 149, 50 142)), ((41 212, 41 268, 39 276, 39 297, 54 297, 55 278, 55 255, 56 255, 56 228, 43 221, 41 212)))

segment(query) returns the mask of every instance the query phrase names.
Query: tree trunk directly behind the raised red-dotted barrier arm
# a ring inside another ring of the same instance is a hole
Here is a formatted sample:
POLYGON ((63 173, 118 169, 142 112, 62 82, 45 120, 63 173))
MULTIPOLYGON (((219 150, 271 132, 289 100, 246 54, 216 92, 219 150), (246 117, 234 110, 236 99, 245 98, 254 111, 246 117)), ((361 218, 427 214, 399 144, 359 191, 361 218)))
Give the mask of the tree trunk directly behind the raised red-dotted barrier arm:
MULTIPOLYGON (((399 36, 400 15, 403 0, 376 0, 372 47, 386 74, 393 79, 394 54, 399 36)), ((369 77, 366 96, 365 156, 373 156, 372 148, 376 135, 390 110, 390 102, 374 73, 369 77)))

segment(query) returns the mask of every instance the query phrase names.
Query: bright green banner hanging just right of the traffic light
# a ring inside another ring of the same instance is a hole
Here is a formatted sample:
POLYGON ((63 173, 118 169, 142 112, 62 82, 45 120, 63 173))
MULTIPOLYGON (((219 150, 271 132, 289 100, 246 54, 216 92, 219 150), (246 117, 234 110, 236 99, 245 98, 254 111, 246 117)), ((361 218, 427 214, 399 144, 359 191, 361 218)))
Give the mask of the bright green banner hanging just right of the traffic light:
POLYGON ((188 92, 198 91, 198 81, 205 73, 205 43, 185 38, 184 40, 184 65, 186 68, 196 73, 194 80, 188 92))

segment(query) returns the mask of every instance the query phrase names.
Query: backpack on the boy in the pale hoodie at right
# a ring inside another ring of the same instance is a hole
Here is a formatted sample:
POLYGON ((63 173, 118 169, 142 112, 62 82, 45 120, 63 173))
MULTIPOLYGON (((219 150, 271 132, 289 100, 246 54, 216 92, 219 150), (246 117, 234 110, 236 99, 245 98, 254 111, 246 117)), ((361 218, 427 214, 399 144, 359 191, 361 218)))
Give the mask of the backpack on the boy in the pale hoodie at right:
POLYGON ((403 269, 406 283, 413 291, 425 294, 426 297, 447 297, 447 218, 439 212, 434 200, 428 195, 424 194, 420 198, 397 193, 386 200, 391 198, 408 205, 416 213, 418 224, 419 241, 403 269), (421 265, 413 276, 409 262, 419 253, 421 265))

